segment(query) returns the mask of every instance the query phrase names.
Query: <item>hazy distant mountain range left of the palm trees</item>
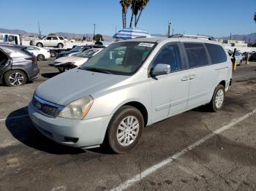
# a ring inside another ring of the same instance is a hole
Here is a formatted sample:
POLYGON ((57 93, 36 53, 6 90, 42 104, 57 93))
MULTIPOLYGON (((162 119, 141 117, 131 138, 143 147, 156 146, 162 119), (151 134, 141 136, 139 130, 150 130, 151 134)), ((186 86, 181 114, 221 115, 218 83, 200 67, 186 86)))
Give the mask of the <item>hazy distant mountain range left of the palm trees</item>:
MULTIPOLYGON (((6 28, 0 28, 0 33, 7 33, 7 34, 21 34, 24 37, 27 36, 38 36, 38 34, 36 33, 29 33, 23 30, 18 30, 18 29, 6 29, 6 28)), ((93 34, 72 34, 72 33, 64 33, 64 32, 56 32, 55 34, 59 35, 59 36, 64 36, 67 37, 67 39, 83 39, 83 36, 86 36, 87 38, 91 38, 93 37, 93 34)), ((108 35, 103 35, 103 39, 105 41, 113 41, 112 36, 108 36, 108 35)))

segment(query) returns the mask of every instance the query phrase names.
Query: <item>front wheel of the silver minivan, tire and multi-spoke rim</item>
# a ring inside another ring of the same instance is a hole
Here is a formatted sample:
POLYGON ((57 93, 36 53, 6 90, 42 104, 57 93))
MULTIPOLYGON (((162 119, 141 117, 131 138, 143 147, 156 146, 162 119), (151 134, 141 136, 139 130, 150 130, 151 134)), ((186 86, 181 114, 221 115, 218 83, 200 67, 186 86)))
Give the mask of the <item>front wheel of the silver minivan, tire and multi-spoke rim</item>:
POLYGON ((108 145, 113 152, 128 152, 138 144, 143 128, 144 120, 140 111, 133 106, 122 106, 108 125, 108 145))

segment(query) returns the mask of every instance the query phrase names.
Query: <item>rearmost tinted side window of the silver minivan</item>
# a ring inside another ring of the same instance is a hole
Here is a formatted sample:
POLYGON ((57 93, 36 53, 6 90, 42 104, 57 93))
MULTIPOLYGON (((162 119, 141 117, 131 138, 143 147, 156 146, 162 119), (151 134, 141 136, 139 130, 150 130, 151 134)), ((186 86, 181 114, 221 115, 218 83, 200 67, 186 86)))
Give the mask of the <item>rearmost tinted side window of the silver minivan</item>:
POLYGON ((222 46, 206 43, 206 48, 210 54, 211 63, 216 64, 227 61, 227 55, 225 53, 225 50, 223 50, 222 46))

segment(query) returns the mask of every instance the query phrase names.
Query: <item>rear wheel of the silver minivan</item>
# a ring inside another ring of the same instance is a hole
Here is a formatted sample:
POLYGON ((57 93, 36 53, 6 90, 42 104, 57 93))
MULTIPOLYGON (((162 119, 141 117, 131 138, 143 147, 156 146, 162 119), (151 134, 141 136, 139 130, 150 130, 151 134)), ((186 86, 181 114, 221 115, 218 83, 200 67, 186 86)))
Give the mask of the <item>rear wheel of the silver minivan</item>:
POLYGON ((222 109, 225 101, 225 87, 218 85, 214 90, 214 95, 211 98, 211 102, 208 104, 209 109, 212 112, 218 112, 222 109))

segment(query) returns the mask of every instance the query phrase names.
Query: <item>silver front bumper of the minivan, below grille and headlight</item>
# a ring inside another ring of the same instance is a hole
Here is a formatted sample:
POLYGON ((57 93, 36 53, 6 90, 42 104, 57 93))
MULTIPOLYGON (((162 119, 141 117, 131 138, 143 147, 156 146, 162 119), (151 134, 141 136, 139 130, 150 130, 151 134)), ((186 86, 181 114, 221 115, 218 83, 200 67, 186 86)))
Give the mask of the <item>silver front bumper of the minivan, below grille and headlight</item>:
POLYGON ((70 120, 46 117, 29 103, 29 117, 35 127, 49 139, 71 147, 89 147, 102 144, 112 115, 89 120, 70 120))

